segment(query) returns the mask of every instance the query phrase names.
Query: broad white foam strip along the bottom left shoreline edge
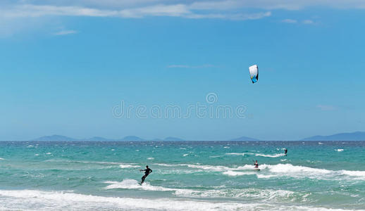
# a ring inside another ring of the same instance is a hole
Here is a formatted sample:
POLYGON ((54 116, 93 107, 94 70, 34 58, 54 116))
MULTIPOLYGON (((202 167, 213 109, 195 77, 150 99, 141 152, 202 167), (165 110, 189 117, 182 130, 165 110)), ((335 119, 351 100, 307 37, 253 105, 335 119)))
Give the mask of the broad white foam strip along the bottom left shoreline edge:
POLYGON ((1 201, 4 210, 242 210, 256 206, 242 203, 211 203, 169 198, 118 198, 32 190, 0 191, 0 196, 7 198, 1 201))

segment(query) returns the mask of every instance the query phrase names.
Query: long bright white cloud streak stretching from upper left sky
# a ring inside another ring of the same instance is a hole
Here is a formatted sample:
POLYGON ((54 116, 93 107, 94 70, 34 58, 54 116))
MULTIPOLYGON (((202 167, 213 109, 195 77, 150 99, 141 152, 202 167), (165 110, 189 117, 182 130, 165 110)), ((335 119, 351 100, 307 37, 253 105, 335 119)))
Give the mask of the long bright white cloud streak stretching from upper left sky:
POLYGON ((47 15, 54 16, 91 16, 91 17, 120 17, 144 18, 146 16, 171 16, 182 18, 218 18, 228 20, 255 20, 271 15, 263 13, 194 13, 185 4, 154 5, 140 8, 126 8, 123 10, 108 10, 98 8, 85 8, 80 6, 39 6, 32 4, 18 5, 0 11, 4 18, 32 18, 47 15))

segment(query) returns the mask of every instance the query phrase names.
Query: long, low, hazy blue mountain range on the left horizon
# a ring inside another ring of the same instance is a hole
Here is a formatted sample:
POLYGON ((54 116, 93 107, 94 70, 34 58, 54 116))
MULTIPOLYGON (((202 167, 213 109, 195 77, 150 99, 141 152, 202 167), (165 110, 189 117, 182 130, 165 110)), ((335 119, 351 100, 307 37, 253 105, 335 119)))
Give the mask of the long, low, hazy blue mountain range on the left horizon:
POLYGON ((122 139, 106 139, 98 136, 89 139, 74 139, 68 136, 53 135, 53 136, 42 136, 37 139, 33 139, 32 141, 185 141, 185 140, 176 137, 167 137, 166 139, 142 139, 138 136, 125 136, 122 139))

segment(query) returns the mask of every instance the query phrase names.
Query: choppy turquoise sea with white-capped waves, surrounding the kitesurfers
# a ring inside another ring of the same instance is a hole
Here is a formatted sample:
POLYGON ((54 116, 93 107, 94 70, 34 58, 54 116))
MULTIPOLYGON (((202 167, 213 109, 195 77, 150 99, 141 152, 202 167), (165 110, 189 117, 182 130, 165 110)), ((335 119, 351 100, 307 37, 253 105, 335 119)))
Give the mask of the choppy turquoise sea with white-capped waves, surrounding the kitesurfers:
POLYGON ((365 142, 3 141, 0 201, 0 210, 365 210, 365 142), (140 186, 145 165, 153 172, 140 186))

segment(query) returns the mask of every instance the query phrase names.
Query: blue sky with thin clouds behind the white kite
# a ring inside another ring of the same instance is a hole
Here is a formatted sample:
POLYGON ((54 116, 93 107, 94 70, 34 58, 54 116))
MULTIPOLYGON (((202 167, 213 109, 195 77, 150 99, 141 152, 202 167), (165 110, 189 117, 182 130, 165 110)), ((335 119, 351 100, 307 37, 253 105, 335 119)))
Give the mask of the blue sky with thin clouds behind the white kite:
POLYGON ((364 131, 364 37, 363 0, 3 0, 0 140, 364 131))

